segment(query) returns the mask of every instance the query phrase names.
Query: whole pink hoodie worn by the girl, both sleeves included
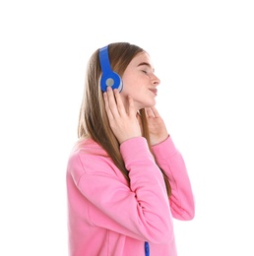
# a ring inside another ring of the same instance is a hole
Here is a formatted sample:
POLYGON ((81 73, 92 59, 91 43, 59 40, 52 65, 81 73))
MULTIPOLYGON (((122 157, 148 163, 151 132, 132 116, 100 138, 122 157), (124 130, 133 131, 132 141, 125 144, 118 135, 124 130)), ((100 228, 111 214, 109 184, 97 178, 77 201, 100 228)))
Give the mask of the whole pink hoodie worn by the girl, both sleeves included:
POLYGON ((67 168, 70 256, 176 256, 172 217, 194 218, 184 160, 170 137, 153 147, 137 137, 120 152, 130 186, 105 151, 88 139, 77 144, 67 168), (168 200, 164 180, 171 186, 168 200))

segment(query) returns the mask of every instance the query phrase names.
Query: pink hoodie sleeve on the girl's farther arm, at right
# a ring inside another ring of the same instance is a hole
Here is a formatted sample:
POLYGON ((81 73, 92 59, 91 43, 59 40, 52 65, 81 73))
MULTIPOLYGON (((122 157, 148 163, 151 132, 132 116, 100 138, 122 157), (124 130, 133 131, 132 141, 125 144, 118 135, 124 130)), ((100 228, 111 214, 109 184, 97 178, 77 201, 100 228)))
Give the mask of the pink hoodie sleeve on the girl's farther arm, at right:
POLYGON ((173 218, 182 221, 192 220, 195 215, 194 197, 181 154, 175 148, 171 137, 153 146, 152 149, 171 186, 169 205, 173 218))

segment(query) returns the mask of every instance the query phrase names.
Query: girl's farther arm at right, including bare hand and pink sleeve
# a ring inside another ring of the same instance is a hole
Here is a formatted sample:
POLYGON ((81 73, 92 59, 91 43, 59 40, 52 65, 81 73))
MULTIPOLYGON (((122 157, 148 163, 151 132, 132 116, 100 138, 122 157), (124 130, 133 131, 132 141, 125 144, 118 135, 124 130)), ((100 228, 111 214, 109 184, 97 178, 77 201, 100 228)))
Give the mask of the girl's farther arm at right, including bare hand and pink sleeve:
POLYGON ((194 218, 195 207, 184 160, 168 136, 156 107, 147 108, 146 112, 153 152, 171 186, 169 203, 172 216, 178 220, 191 220, 194 218))

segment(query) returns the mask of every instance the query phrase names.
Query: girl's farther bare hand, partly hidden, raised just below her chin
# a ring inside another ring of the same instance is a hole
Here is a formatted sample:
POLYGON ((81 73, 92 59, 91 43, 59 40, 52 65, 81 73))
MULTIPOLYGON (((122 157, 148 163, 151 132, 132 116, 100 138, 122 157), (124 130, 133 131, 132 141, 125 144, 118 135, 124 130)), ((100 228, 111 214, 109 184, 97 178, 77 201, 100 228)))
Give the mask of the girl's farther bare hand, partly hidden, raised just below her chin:
POLYGON ((150 141, 151 145, 154 146, 164 141, 168 137, 168 132, 166 130, 163 119, 159 115, 159 111, 155 106, 146 108, 150 141))

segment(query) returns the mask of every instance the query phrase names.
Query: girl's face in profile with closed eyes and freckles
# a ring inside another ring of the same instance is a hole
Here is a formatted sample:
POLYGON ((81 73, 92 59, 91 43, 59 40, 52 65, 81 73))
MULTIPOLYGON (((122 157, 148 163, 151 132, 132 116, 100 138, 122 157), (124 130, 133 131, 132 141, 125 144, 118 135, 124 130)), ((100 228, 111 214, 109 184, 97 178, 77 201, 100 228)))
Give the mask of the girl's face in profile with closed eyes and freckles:
POLYGON ((120 96, 125 106, 127 96, 133 98, 137 110, 156 104, 157 86, 160 81, 154 72, 148 53, 139 53, 132 59, 122 75, 123 89, 120 96))

